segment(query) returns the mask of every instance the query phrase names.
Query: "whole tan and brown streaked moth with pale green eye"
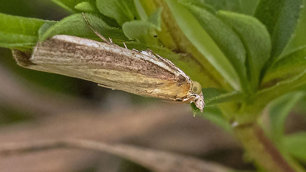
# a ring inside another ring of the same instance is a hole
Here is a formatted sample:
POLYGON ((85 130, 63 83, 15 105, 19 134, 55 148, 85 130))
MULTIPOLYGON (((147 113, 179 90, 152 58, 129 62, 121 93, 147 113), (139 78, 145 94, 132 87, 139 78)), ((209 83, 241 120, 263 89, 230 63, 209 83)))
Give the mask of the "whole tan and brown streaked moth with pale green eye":
POLYGON ((81 78, 141 96, 193 102, 203 110, 201 85, 171 61, 150 50, 122 48, 99 36, 104 42, 55 35, 38 42, 29 58, 20 51, 13 51, 13 55, 25 68, 81 78))

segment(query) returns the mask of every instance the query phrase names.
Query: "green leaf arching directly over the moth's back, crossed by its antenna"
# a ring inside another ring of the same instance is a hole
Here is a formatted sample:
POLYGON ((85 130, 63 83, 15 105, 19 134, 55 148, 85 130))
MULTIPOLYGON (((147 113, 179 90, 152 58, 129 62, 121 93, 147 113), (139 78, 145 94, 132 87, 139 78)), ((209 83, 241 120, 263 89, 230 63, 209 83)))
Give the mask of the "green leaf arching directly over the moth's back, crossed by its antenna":
MULTIPOLYGON (((103 20, 92 14, 85 14, 85 16, 94 29, 106 38, 111 37, 128 40, 128 38, 123 34, 122 30, 108 26, 103 20)), ((46 28, 43 28, 43 30, 46 30, 46 28)), ((78 37, 101 40, 90 29, 81 14, 73 14, 68 16, 50 26, 44 33, 41 31, 39 40, 42 41, 56 34, 75 35, 78 37)))

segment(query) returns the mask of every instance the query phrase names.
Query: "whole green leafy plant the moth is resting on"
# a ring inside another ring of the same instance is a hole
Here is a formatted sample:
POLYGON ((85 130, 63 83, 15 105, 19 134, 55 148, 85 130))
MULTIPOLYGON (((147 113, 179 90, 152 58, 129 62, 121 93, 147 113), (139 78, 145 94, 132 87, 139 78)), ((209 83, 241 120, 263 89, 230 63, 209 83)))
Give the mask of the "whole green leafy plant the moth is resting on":
POLYGON ((283 132, 290 109, 306 94, 306 46, 285 51, 302 0, 52 1, 72 15, 56 22, 0 13, 0 47, 31 52, 56 34, 100 40, 84 12, 116 44, 150 48, 198 81, 207 106, 196 113, 232 133, 259 169, 305 172, 293 158, 306 162, 305 133, 283 132), (261 121, 265 108, 268 126, 261 121))

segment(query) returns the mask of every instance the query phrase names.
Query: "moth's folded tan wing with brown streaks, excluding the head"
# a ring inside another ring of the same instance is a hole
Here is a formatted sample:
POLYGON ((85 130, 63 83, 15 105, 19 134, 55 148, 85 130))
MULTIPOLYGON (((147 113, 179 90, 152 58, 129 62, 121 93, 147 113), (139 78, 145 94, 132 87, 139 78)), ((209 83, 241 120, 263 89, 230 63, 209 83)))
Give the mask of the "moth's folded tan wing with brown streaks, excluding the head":
MULTIPOLYGON (((99 83, 108 88, 143 96, 176 100, 176 98, 185 97, 190 90, 189 80, 182 82, 180 80, 159 77, 159 73, 164 74, 163 72, 168 72, 167 69, 155 70, 157 73, 151 73, 152 75, 149 76, 150 70, 145 73, 139 73, 137 69, 129 71, 117 68, 115 63, 101 66, 97 64, 99 61, 90 60, 94 57, 103 62, 104 59, 97 58, 99 57, 97 54, 100 53, 101 57, 105 55, 101 54, 98 49, 102 50, 103 53, 110 53, 110 51, 107 52, 106 50, 109 48, 114 49, 114 46, 115 51, 118 51, 118 53, 130 53, 130 55, 125 56, 127 59, 135 53, 132 50, 126 50, 115 44, 108 45, 103 42, 76 36, 56 35, 53 38, 38 43, 33 50, 32 56, 29 57, 27 54, 26 58, 22 57, 25 55, 20 53, 21 51, 18 54, 16 50, 15 58, 19 65, 26 68, 81 78, 99 83), (101 49, 101 47, 103 48, 101 49), (93 50, 96 52, 93 53, 93 50)), ((154 59, 150 60, 154 61, 154 59)), ((142 63, 144 63, 144 60, 142 60, 142 63)), ((162 63, 158 63, 163 66, 162 63)), ((179 75, 181 74, 179 73, 179 75)), ((185 77, 184 75, 181 76, 185 77)))

